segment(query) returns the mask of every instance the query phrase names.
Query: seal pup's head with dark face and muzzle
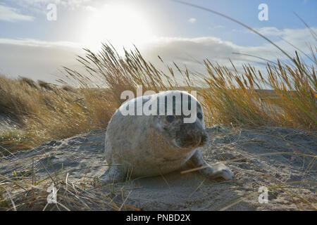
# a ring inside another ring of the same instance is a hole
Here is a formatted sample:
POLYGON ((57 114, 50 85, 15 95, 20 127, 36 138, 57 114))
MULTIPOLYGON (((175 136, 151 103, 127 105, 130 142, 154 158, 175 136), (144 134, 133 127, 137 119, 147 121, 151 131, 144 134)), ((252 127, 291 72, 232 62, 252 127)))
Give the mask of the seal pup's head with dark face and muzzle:
POLYGON ((165 113, 154 117, 156 130, 173 146, 193 149, 206 144, 208 136, 204 129, 204 113, 194 96, 185 91, 170 91, 159 103, 159 108, 164 108, 165 113), (170 103, 173 99, 173 107, 168 104, 168 99, 170 103), (168 110, 169 107, 173 110, 168 110))

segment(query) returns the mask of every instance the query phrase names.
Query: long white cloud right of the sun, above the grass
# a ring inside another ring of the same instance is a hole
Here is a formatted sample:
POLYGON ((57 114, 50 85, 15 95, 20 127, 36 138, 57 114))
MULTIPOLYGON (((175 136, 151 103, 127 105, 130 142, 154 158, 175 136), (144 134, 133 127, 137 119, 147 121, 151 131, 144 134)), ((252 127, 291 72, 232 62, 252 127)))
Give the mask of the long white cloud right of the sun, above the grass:
MULTIPOLYGON (((314 32, 317 32, 316 27, 311 27, 314 32)), ((280 48, 294 56, 293 46, 301 49, 305 53, 309 53, 307 43, 314 44, 316 41, 311 36, 308 29, 284 29, 278 30, 275 27, 263 28, 262 32, 266 34, 274 35, 275 37, 282 37, 277 39, 275 44, 280 48), (285 41, 284 41, 285 40, 285 41), (288 44, 287 42, 292 44, 288 44)), ((250 34, 252 35, 252 34, 250 34)), ((216 37, 199 37, 199 38, 177 38, 177 37, 165 37, 157 38, 148 46, 140 49, 144 54, 144 58, 150 61, 156 61, 159 63, 157 56, 161 56, 166 63, 176 62, 180 65, 187 65, 187 68, 201 71, 203 67, 201 62, 208 58, 212 62, 220 63, 220 65, 231 66, 229 58, 237 65, 237 68, 242 63, 251 63, 252 65, 259 65, 263 67, 266 63, 265 60, 245 56, 242 54, 234 53, 247 53, 252 56, 266 58, 267 60, 276 61, 277 58, 286 60, 284 56, 275 46, 269 43, 265 43, 259 46, 240 46, 230 41, 223 41, 216 37), (256 63, 256 64, 254 64, 256 63)), ((297 50, 298 51, 298 50, 297 50)), ((302 54, 302 53, 300 53, 302 54)))

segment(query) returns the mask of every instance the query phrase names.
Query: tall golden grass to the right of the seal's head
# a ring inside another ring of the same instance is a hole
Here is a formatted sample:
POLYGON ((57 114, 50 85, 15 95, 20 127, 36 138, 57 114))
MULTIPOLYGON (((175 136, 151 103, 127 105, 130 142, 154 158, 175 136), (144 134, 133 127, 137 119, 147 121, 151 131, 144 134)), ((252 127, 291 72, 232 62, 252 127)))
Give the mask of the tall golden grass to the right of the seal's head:
POLYGON ((209 76, 204 78, 207 88, 201 91, 210 123, 235 124, 247 127, 292 127, 316 130, 316 70, 311 65, 268 64, 266 74, 251 65, 244 65, 244 73, 208 60, 209 76), (308 72, 309 77, 304 74, 308 72), (270 89, 270 90, 268 90, 270 89))

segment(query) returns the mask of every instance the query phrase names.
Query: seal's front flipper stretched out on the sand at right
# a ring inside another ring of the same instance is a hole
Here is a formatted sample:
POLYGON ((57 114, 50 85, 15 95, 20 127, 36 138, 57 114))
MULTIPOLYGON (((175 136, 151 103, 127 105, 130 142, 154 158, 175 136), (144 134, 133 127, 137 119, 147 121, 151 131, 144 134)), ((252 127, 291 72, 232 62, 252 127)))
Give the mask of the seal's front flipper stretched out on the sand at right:
POLYGON ((225 180, 231 180, 233 178, 233 174, 230 171, 230 169, 222 163, 214 167, 208 165, 208 163, 202 157, 201 151, 199 149, 197 149, 194 155, 192 155, 192 158, 190 158, 189 163, 194 168, 206 167, 204 169, 200 169, 199 172, 207 176, 209 179, 223 178, 225 180))

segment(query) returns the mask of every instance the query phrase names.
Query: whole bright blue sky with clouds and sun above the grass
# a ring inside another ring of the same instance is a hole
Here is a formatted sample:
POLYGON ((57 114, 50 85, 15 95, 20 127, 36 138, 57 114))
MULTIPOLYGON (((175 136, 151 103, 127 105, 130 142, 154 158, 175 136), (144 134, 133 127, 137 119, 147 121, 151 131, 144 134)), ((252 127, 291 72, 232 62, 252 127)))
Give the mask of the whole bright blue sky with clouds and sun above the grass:
MULTIPOLYGON (((183 1, 229 15, 292 55, 294 46, 307 54, 309 44, 316 46, 297 18, 317 33, 316 0, 183 1), (264 14, 261 4, 267 6, 264 14), (260 20, 259 13, 267 18, 260 20)), ((0 0, 0 74, 7 77, 56 83, 62 66, 78 67, 75 59, 84 53, 82 48, 98 51, 105 41, 119 52, 135 44, 158 67, 159 55, 166 63, 196 71, 206 58, 221 65, 230 65, 230 58, 238 66, 261 67, 265 61, 241 53, 267 60, 284 57, 242 25, 175 1, 0 0)))

